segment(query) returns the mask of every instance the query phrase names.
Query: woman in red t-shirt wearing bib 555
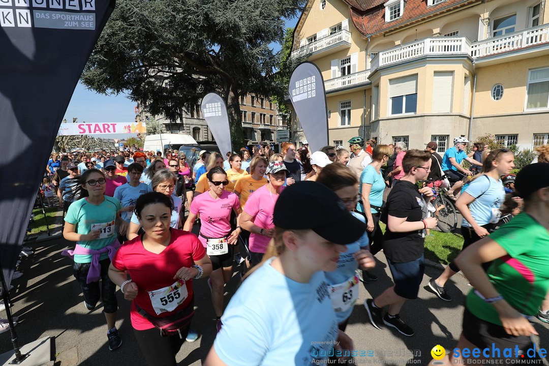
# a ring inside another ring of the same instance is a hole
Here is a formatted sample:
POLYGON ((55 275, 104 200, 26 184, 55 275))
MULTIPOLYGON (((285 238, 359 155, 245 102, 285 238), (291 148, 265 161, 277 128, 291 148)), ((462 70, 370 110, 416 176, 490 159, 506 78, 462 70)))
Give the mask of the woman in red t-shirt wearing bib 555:
POLYGON ((170 196, 158 192, 140 196, 136 215, 145 233, 126 241, 109 267, 109 278, 132 301, 133 332, 151 366, 176 364, 194 313, 193 279, 211 272, 210 258, 197 237, 170 228, 171 211, 170 196), (181 324, 178 331, 163 336, 151 319, 168 317, 181 324))

